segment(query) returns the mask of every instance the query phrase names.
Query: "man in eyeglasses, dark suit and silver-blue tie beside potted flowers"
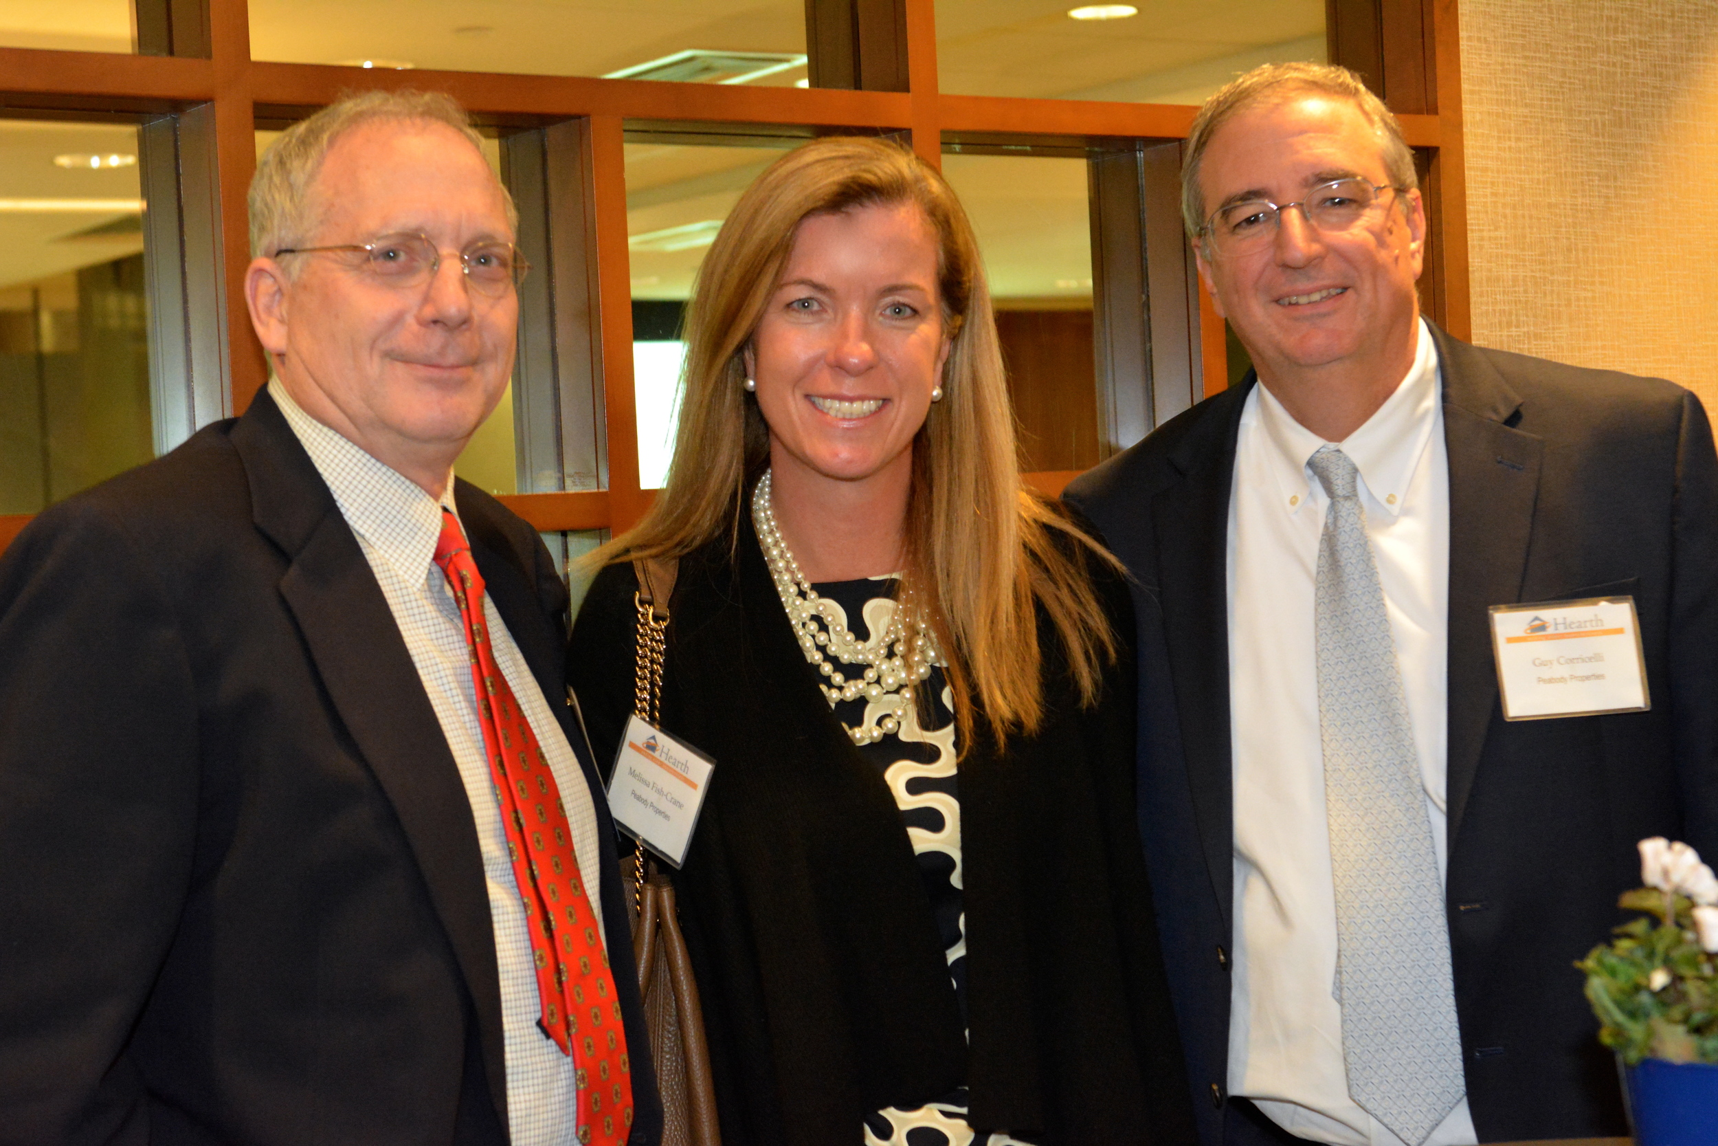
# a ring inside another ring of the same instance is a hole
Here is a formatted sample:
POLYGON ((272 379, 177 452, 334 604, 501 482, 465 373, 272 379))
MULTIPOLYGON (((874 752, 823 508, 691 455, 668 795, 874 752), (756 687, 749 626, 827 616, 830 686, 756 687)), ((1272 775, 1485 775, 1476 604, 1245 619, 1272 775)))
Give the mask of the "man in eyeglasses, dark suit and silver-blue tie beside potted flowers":
POLYGON ((1216 93, 1182 187, 1254 373, 1069 498, 1136 577, 1139 820, 1204 1146, 1624 1134, 1570 964, 1636 840, 1718 854, 1706 414, 1426 321, 1412 153, 1350 72, 1216 93), (1570 601, 1632 605, 1606 672, 1649 706, 1507 718, 1491 608, 1570 601))

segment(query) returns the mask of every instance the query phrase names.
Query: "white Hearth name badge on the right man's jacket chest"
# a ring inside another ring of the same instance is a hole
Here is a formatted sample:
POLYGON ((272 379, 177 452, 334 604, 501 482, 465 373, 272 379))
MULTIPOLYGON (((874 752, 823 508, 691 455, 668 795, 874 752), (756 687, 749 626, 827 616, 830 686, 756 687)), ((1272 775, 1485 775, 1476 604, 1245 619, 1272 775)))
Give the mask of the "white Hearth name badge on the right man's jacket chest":
POLYGON ((1503 720, 1651 708, 1632 596, 1493 605, 1503 720))

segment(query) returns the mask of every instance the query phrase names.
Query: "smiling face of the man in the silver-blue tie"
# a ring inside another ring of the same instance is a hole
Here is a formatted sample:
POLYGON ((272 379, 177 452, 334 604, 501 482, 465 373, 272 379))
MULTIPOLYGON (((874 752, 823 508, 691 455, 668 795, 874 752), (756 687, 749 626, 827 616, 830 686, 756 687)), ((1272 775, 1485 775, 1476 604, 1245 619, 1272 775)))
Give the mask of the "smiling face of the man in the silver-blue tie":
MULTIPOLYGON (((1199 186, 1209 216, 1239 199, 1295 203, 1356 175, 1390 182, 1378 132, 1350 101, 1299 93, 1223 124, 1199 186)), ((1266 385, 1354 371, 1393 387, 1414 359, 1424 235, 1419 192, 1385 191, 1340 234, 1313 230, 1290 208, 1256 251, 1230 256, 1201 244, 1199 275, 1266 385)))

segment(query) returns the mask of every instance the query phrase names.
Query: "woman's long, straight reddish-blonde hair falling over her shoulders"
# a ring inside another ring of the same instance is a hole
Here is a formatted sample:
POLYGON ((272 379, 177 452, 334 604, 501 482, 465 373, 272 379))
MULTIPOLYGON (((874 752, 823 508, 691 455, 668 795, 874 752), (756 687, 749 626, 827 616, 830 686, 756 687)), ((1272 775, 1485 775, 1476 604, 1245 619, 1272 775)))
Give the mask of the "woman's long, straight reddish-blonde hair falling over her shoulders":
POLYGON ((993 735, 1043 718, 1034 603, 1055 625, 1091 703, 1115 634, 1087 562, 1098 545, 1020 481, 1008 387, 972 223, 935 168, 881 139, 826 137, 777 160, 740 196, 698 270, 685 311, 685 375, 668 485, 644 519, 591 553, 593 567, 684 557, 739 541, 770 426, 742 388, 751 344, 801 220, 857 206, 916 204, 938 237, 938 296, 952 338, 943 400, 912 442, 902 576, 926 608, 971 744, 974 701, 993 735), (1060 539, 1057 534, 1062 534, 1060 539))

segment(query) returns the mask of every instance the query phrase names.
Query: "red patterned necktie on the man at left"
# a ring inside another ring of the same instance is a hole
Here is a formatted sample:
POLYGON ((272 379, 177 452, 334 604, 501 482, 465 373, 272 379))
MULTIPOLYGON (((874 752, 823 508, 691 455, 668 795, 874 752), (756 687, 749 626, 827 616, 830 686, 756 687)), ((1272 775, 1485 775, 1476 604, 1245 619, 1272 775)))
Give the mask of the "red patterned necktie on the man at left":
POLYGON ((543 1017, 538 1026, 572 1055, 579 1141, 615 1146, 632 1127, 632 1074, 620 1002, 596 916, 584 897, 567 808, 555 773, 495 663, 483 612, 483 574, 459 521, 442 510, 435 564, 447 574, 471 649, 478 723, 502 806, 507 856, 526 905, 543 1017))

